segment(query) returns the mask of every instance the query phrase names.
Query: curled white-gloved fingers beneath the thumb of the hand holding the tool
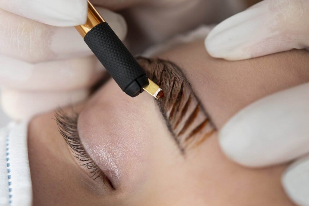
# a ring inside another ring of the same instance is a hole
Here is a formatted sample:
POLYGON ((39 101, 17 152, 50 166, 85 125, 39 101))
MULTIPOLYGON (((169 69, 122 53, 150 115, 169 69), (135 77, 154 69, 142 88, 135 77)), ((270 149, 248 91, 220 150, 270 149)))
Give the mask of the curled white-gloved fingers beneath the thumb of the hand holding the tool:
MULTIPOLYGON (((29 5, 23 1, 0 0, 0 7, 16 6, 16 11, 28 15, 39 11, 36 15, 40 20, 49 23, 54 20, 49 16, 53 14, 52 9, 32 10, 31 5, 38 1, 25 2, 29 5), (19 10, 21 7, 23 10, 19 10), (41 14, 42 10, 46 10, 46 17, 41 14)), ((98 10, 123 40, 126 36, 124 18, 107 9, 98 10)), ((2 9, 0 19, 1 103, 8 116, 25 120, 87 97, 103 66, 74 27, 50 26, 2 9)), ((62 20, 54 21, 62 24, 62 20)))

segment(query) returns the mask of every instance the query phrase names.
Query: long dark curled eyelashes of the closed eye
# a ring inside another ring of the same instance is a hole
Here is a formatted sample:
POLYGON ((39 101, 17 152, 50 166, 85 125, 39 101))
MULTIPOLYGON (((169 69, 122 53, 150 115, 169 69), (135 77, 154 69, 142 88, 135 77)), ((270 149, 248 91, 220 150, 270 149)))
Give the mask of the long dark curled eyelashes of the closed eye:
POLYGON ((83 144, 80 141, 78 130, 77 130, 77 120, 78 113, 72 112, 65 113, 62 109, 57 109, 55 111, 56 123, 58 126, 58 131, 69 145, 71 151, 74 153, 74 157, 79 160, 79 164, 90 170, 90 178, 97 179, 102 178, 105 186, 110 186, 112 190, 115 190, 112 182, 105 176, 102 170, 95 164, 95 162, 87 154, 83 144))

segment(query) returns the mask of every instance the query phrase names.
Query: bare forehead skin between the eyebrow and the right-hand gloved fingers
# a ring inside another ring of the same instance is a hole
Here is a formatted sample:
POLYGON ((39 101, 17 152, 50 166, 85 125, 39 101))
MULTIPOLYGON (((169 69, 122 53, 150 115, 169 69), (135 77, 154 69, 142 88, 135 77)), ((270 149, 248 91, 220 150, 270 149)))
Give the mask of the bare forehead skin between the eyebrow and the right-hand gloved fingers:
POLYGON ((183 68, 219 129, 235 112, 257 99, 309 81, 309 54, 305 50, 231 62, 210 57, 202 42, 194 42, 158 56, 183 68))

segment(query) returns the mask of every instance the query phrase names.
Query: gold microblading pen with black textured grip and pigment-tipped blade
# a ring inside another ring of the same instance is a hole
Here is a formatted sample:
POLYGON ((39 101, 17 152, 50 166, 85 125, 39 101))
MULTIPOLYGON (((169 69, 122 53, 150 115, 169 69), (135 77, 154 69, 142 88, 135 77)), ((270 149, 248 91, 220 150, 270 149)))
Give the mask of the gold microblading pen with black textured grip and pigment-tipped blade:
POLYGON ((87 22, 75 28, 126 94, 136 97, 146 90, 156 99, 164 97, 164 91, 147 78, 145 71, 89 0, 87 22))

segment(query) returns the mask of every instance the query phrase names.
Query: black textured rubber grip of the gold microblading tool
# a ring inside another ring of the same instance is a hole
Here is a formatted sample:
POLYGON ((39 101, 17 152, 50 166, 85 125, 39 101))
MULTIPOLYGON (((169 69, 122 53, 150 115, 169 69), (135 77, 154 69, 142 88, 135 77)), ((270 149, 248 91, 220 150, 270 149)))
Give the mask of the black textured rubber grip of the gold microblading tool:
POLYGON ((84 41, 120 88, 130 96, 137 96, 149 84, 142 67, 106 22, 93 27, 84 41))

